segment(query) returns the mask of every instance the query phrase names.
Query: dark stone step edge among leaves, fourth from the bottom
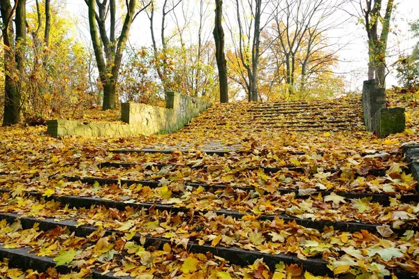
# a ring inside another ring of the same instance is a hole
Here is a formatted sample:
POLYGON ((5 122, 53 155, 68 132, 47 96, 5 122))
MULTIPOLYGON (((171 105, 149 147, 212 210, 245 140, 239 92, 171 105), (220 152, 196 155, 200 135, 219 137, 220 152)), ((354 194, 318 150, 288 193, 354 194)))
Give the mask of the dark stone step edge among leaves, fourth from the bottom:
MULTIPOLYGON (((121 185, 131 186, 135 184, 141 184, 142 186, 147 186, 149 188, 158 188, 160 187, 159 181, 138 181, 138 180, 128 180, 128 179, 103 179, 98 177, 79 177, 79 176, 64 176, 64 179, 67 181, 77 182, 80 181, 82 183, 91 184, 99 183, 100 185, 117 185, 121 183, 121 185)), ((199 188, 202 187, 205 190, 225 190, 227 188, 226 185, 208 185, 205 183, 186 183, 185 186, 189 186, 191 188, 199 188)), ((235 190, 243 190, 246 192, 250 192, 255 190, 254 187, 251 186, 228 186, 229 188, 233 188, 235 190)), ((295 193, 298 195, 298 189, 284 189, 284 188, 277 188, 277 191, 281 193, 281 195, 295 193)), ((395 195, 388 195, 388 194, 377 194, 377 193, 353 193, 353 192, 336 192, 336 191, 326 191, 326 190, 317 190, 315 193, 311 195, 318 195, 321 194, 323 197, 326 195, 330 195, 331 193, 335 193, 341 197, 345 197, 346 199, 362 199, 362 198, 371 198, 372 202, 378 202, 385 206, 390 204, 390 198, 396 197, 395 195)), ((304 196, 299 196, 304 197, 304 196)), ((418 201, 419 198, 417 195, 402 195, 400 197, 402 202, 414 202, 418 201)))

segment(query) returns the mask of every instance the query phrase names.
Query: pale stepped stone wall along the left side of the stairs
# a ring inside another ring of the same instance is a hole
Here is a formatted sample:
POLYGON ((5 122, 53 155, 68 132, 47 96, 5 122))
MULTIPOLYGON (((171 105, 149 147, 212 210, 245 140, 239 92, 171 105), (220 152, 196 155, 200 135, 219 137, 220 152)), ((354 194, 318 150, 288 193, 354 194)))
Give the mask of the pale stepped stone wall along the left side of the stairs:
POLYGON ((47 134, 52 137, 81 135, 84 137, 122 137, 172 133, 189 123, 193 117, 207 110, 211 103, 166 93, 166 108, 139 103, 123 103, 121 119, 124 123, 82 123, 70 120, 47 121, 47 134))

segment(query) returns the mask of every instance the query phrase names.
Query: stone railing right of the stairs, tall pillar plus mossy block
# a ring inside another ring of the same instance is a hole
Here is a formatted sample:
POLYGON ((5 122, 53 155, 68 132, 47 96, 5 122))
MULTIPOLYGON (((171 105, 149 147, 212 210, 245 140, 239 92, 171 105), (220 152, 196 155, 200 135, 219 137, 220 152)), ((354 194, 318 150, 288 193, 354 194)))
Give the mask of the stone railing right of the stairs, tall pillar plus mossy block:
POLYGON ((385 89, 377 88, 375 80, 365 81, 362 89, 365 127, 380 137, 401 133, 406 128, 404 108, 387 108, 385 103, 385 89))

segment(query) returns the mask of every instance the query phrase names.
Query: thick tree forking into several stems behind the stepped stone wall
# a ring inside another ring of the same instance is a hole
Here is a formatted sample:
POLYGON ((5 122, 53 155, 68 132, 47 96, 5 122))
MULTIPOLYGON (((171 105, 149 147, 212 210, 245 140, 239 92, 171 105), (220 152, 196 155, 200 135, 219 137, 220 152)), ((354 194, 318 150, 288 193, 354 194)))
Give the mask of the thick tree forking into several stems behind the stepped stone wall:
POLYGON ((84 0, 89 7, 89 29, 94 47, 99 77, 103 84, 103 110, 113 110, 122 54, 135 17, 147 6, 136 11, 137 0, 126 1, 126 14, 119 36, 117 31, 116 0, 84 0), (96 7, 98 11, 96 12, 96 7), (108 15, 110 14, 109 26, 108 15), (109 36, 108 36, 109 27, 109 36))

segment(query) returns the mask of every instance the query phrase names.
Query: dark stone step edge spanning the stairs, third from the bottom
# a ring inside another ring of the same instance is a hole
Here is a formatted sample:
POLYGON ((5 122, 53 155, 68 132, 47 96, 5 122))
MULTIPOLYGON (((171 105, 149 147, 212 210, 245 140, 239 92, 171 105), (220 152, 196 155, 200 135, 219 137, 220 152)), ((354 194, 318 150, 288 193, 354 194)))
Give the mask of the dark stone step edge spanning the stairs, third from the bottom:
MULTIPOLYGON (((8 189, 0 189, 0 193, 10 193, 11 191, 8 189)), ((91 206, 105 206, 106 208, 115 208, 118 210, 126 210, 126 206, 130 206, 133 209, 153 209, 159 211, 168 211, 172 213, 191 213, 191 209, 184 207, 184 206, 170 206, 168 204, 161 204, 156 202, 117 202, 110 199, 101 199, 98 197, 77 197, 77 196, 57 196, 51 195, 50 197, 43 197, 43 193, 37 192, 30 192, 28 195, 32 197, 36 197, 37 199, 45 199, 45 200, 54 200, 55 202, 60 202, 61 204, 68 204, 68 206, 75 207, 75 208, 90 208, 91 206)), ((193 210, 192 210, 193 211, 193 210)), ((216 215, 224 215, 224 216, 231 216, 236 219, 242 219, 244 216, 254 215, 252 212, 245 212, 240 213, 237 211, 229 211, 226 209, 221 210, 200 210, 202 214, 206 214, 208 212, 216 213, 216 215)), ((381 224, 371 224, 371 223, 360 223, 356 221, 352 222, 334 222, 329 220, 312 220, 312 219, 304 219, 304 218, 297 218, 293 216, 288 216, 286 214, 277 214, 277 215, 265 215, 261 214, 258 216, 258 220, 274 220, 275 218, 283 219, 285 222, 294 222, 297 225, 301 225, 303 227, 309 227, 312 229, 318 229, 319 231, 323 231, 325 227, 334 227, 335 229, 341 232, 360 232, 362 229, 365 229, 369 232, 376 233, 377 227, 381 224)), ((409 229, 414 229, 414 227, 409 227, 409 229)), ((393 232, 402 236, 404 234, 405 229, 392 229, 393 232)))

